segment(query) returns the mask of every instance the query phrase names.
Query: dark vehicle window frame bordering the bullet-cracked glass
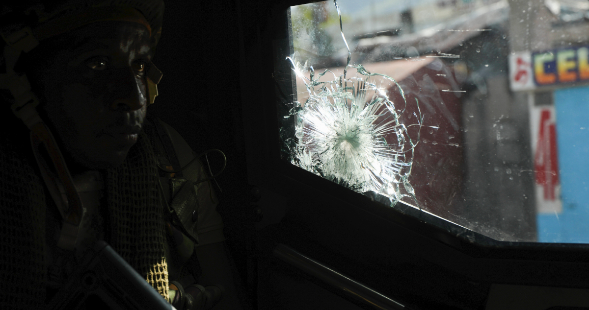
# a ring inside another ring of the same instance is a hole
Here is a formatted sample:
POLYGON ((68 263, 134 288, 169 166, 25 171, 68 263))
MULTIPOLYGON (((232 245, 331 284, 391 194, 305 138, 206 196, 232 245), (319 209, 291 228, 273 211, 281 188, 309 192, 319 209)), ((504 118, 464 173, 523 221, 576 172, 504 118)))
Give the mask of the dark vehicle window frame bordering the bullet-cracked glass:
MULTIPOLYGON (((276 100, 280 92, 288 93, 296 82, 286 60, 284 66, 276 65, 275 53, 292 53, 292 43, 286 45, 292 37, 289 8, 306 3, 309 1, 280 0, 252 7, 242 4, 238 8, 248 181, 251 186, 281 197, 282 205, 268 207, 285 210, 286 215, 277 218, 278 222, 296 219, 291 221, 295 223, 294 235, 290 231, 289 236, 282 236, 286 240, 283 243, 305 247, 305 242, 297 241, 296 234, 300 234, 299 240, 312 240, 358 261, 366 260, 366 253, 359 248, 369 251, 380 246, 375 251, 378 257, 365 261, 373 266, 399 261, 401 255, 432 263, 472 281, 589 287, 584 276, 589 273, 589 244, 493 240, 413 207, 386 207, 280 159, 278 129, 282 116, 276 100), (349 244, 346 240, 350 236, 366 245, 349 244)), ((280 223, 272 231, 285 227, 280 223)), ((262 233, 264 229, 260 227, 262 233)))

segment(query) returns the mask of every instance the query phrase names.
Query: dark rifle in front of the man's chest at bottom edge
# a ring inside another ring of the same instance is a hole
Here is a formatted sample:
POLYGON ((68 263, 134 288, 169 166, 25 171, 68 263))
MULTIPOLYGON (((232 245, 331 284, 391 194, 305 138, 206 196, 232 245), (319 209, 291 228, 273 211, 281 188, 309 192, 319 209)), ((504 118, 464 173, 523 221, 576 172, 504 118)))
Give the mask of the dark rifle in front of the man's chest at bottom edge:
POLYGON ((104 241, 69 278, 47 309, 176 310, 104 241))

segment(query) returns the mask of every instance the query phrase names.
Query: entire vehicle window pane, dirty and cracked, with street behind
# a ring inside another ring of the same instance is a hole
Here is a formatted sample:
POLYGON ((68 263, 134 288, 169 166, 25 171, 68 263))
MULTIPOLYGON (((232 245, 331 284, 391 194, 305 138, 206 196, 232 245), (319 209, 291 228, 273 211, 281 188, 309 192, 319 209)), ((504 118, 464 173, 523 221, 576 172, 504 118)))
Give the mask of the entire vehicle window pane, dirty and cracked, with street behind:
POLYGON ((495 240, 589 242, 589 2, 325 1, 290 26, 283 160, 495 240))

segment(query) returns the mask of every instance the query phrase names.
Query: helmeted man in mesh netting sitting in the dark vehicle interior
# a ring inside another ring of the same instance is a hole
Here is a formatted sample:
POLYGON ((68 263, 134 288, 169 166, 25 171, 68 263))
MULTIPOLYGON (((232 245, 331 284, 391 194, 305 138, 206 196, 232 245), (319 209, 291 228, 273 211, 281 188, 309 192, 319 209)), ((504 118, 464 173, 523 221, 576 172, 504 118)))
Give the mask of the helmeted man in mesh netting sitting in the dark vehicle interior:
POLYGON ((177 309, 240 309, 210 174, 149 115, 163 2, 28 2, 0 5, 0 308, 50 303, 104 240, 177 309))

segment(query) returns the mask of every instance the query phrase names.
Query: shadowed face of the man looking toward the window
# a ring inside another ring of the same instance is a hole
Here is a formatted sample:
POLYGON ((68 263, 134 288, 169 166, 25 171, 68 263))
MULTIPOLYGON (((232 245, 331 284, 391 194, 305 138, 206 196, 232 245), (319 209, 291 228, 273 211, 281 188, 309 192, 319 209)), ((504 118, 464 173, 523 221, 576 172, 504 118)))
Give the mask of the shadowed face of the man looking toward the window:
POLYGON ((145 117, 147 28, 97 22, 44 44, 32 62, 38 69, 29 70, 62 151, 85 169, 120 165, 145 117))

